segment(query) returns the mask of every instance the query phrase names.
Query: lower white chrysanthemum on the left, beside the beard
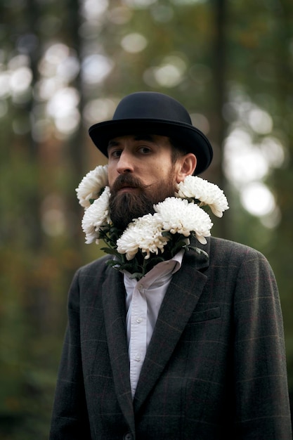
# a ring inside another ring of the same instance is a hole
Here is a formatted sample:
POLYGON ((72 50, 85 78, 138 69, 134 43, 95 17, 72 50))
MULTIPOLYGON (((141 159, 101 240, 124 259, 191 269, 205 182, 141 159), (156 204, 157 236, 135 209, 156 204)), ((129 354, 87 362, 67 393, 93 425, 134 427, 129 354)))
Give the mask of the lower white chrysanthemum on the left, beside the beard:
POLYGON ((86 234, 86 244, 88 245, 92 242, 98 244, 99 228, 110 223, 109 198, 110 188, 106 186, 102 195, 84 212, 82 229, 86 234))

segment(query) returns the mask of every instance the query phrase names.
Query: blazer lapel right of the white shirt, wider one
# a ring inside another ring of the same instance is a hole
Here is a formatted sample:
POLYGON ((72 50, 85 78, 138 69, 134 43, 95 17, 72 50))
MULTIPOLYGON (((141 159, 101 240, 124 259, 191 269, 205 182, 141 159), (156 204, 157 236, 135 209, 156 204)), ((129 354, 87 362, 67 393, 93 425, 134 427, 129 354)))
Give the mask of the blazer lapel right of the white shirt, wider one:
MULTIPOLYGON (((209 253, 209 243, 202 249, 209 253)), ((209 260, 204 255, 189 250, 185 253, 181 269, 171 280, 138 380, 134 396, 135 413, 162 374, 195 309, 207 281, 207 276, 202 273, 207 266, 209 260)))

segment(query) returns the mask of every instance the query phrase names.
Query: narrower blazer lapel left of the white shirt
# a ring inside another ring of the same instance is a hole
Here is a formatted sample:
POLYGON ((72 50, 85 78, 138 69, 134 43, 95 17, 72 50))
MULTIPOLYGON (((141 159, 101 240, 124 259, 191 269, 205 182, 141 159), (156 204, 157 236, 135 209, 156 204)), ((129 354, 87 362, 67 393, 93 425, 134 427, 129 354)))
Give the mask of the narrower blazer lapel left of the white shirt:
POLYGON ((105 278, 102 291, 110 363, 120 408, 132 432, 135 432, 126 339, 125 289, 121 273, 113 268, 109 270, 111 272, 105 278))

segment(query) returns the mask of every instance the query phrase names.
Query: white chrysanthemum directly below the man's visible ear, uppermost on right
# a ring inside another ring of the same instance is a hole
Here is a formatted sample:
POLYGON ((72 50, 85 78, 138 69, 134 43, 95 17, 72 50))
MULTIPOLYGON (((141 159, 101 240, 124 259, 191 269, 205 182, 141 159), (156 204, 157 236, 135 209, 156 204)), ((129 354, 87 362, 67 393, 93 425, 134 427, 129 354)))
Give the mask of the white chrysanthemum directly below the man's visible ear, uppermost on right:
POLYGON ((194 198, 200 200, 200 205, 209 205, 215 216, 223 216, 228 207, 228 201, 223 190, 214 183, 197 176, 186 176, 183 182, 178 183, 178 198, 194 198))

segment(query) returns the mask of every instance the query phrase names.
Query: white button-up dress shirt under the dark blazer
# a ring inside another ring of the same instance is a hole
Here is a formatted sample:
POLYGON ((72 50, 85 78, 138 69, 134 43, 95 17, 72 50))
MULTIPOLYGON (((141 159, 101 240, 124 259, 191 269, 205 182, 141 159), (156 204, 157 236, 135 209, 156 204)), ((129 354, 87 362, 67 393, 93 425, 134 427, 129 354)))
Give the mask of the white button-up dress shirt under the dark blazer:
POLYGON ((126 332, 129 347, 131 392, 134 396, 145 353, 155 328, 159 308, 172 275, 181 268, 184 250, 152 268, 141 280, 124 271, 126 332))

